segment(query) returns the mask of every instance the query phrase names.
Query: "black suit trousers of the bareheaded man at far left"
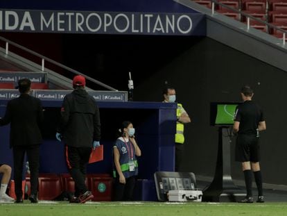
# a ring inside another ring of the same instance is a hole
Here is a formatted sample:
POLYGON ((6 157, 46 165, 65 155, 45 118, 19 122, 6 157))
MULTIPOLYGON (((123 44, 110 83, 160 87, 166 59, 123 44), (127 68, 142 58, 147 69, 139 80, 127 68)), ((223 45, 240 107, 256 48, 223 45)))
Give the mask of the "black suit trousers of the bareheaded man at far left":
POLYGON ((17 198, 21 198, 22 192, 22 179, 23 179, 23 163, 25 153, 28 157, 30 168, 30 181, 31 181, 31 194, 37 194, 38 176, 39 176, 39 145, 18 146, 13 147, 13 161, 14 161, 14 181, 15 181, 15 194, 17 198))

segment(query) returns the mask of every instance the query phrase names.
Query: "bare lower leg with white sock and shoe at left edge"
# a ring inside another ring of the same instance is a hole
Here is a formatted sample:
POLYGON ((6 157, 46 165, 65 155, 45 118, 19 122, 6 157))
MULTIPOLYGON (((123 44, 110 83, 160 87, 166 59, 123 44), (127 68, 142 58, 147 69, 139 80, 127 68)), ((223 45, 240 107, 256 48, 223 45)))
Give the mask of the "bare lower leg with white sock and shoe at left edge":
POLYGON ((12 197, 6 194, 6 189, 11 176, 11 167, 0 164, 0 173, 3 174, 0 188, 0 201, 14 201, 12 197))

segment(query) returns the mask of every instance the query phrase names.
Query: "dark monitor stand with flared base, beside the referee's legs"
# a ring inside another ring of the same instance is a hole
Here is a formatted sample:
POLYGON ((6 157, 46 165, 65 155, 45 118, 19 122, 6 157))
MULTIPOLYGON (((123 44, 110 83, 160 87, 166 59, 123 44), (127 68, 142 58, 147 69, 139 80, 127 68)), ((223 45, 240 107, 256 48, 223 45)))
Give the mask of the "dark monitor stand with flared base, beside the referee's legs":
POLYGON ((202 201, 236 202, 244 199, 245 190, 234 185, 230 169, 229 126, 218 128, 218 154, 214 180, 204 190, 202 201))

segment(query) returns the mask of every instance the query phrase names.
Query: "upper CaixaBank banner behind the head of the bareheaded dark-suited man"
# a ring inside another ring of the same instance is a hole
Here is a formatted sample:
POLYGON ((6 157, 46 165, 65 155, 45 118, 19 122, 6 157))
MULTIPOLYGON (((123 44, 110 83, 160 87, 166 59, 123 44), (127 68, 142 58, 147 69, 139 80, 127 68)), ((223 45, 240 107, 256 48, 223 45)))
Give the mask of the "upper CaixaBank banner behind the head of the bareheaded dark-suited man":
POLYGON ((44 83, 46 73, 42 72, 0 72, 0 82, 17 83, 21 78, 29 78, 33 83, 44 83))

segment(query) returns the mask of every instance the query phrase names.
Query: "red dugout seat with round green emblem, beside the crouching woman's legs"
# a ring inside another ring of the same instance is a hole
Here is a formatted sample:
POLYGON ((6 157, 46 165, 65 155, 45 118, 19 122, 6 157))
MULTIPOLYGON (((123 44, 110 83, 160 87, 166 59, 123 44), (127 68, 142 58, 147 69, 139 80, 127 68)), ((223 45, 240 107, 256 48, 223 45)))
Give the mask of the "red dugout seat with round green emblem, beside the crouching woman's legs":
POLYGON ((87 174, 93 201, 112 201, 113 178, 109 174, 87 174))

